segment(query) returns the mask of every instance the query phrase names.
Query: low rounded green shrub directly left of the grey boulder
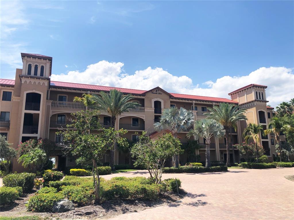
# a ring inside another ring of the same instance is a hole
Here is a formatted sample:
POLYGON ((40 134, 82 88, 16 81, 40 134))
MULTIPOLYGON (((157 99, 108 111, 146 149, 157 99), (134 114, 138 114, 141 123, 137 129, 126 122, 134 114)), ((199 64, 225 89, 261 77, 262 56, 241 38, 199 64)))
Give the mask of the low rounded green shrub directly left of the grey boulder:
POLYGON ((58 202, 63 199, 64 195, 61 193, 38 193, 32 196, 27 204, 28 211, 35 212, 50 212, 54 202, 58 202))

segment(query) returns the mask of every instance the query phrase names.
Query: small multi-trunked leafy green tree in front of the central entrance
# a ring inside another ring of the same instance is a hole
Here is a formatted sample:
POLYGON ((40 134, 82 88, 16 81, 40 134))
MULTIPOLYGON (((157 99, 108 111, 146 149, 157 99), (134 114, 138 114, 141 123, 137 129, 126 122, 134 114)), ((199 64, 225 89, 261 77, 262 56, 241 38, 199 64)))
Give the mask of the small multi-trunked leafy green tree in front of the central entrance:
POLYGON ((181 143, 170 133, 159 136, 155 141, 143 132, 139 141, 131 148, 131 155, 136 158, 134 165, 146 167, 156 184, 161 183, 163 167, 168 158, 183 153, 181 143))

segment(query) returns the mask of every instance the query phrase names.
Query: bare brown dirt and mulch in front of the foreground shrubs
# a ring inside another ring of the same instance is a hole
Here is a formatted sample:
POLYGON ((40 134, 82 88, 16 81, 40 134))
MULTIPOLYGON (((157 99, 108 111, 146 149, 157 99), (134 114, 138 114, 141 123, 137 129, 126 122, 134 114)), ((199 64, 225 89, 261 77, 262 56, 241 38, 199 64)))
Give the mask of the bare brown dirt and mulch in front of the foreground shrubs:
POLYGON ((38 213, 26 211, 25 203, 29 197, 34 195, 24 194, 24 197, 19 198, 8 207, 1 207, 1 216, 19 217, 19 216, 40 216, 50 217, 54 219, 107 219, 120 214, 129 212, 138 212, 144 209, 150 209, 158 206, 163 206, 183 199, 186 192, 181 190, 178 194, 165 193, 157 200, 111 200, 104 202, 101 205, 87 205, 83 207, 75 207, 75 210, 64 213, 38 213))

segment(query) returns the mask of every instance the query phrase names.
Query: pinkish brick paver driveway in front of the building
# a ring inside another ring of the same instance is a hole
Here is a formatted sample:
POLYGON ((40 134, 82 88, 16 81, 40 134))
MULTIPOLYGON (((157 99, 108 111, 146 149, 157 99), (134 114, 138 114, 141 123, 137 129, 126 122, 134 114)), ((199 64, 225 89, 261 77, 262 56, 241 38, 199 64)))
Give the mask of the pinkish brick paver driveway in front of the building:
MULTIPOLYGON (((166 206, 119 215, 112 219, 294 219, 294 182, 284 178, 294 168, 229 169, 230 172, 163 174, 177 177, 187 196, 166 206)), ((103 176, 146 176, 127 172, 103 176)))

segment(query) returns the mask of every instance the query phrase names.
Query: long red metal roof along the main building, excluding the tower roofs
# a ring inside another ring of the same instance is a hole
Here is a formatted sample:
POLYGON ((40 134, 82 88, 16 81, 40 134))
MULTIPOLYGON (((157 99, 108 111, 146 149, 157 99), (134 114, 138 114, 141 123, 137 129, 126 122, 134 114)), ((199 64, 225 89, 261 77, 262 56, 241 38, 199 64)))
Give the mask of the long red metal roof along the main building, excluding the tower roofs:
MULTIPOLYGON (((12 79, 0 79, 0 84, 3 85, 14 85, 15 80, 12 79)), ((96 86, 96 85, 89 85, 89 84, 80 84, 80 83, 72 83, 72 82, 58 82, 58 81, 51 81, 51 87, 55 88, 69 88, 69 89, 81 89, 81 90, 95 90, 95 91, 105 91, 108 92, 111 89, 118 89, 123 93, 131 93, 137 95, 144 95, 146 90, 139 90, 139 89, 125 89, 125 88, 117 88, 117 87, 108 87, 108 86, 96 86)), ((217 97, 207 97, 207 96, 196 96, 196 95, 185 95, 185 94, 177 94, 177 93, 169 93, 173 98, 179 99, 190 99, 190 100, 201 100, 201 101, 213 101, 213 102, 228 102, 228 103, 235 103, 238 102, 225 99, 225 98, 217 98, 217 97)))

